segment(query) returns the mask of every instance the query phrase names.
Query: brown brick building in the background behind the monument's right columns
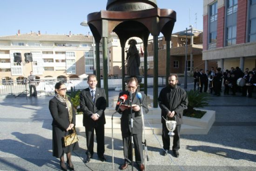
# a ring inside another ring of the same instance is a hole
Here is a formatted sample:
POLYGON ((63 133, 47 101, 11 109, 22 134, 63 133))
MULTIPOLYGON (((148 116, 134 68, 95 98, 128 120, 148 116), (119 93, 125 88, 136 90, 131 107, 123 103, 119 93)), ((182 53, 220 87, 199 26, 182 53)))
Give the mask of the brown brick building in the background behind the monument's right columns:
MULTIPOLYGON (((186 36, 181 35, 184 31, 173 33, 171 37, 171 49, 170 49, 170 73, 184 74, 185 71, 185 55, 186 55, 186 36)), ((194 36, 187 36, 187 73, 192 74, 193 70, 197 67, 199 69, 205 69, 204 61, 202 60, 202 31, 196 30, 190 27, 187 30, 188 33, 193 33, 194 36), (191 62, 192 61, 192 62, 191 62)), ((148 74, 153 75, 154 62, 153 62, 153 40, 148 41, 148 74)), ((164 37, 158 39, 158 73, 159 75, 165 75, 166 68, 166 40, 164 37)), ((141 58, 143 61, 144 58, 141 58)), ((142 62, 142 68, 143 68, 142 62)), ((216 67, 216 62, 209 62, 210 67, 216 67)), ((142 69, 141 68, 141 69, 142 69)), ((143 71, 141 70, 141 73, 143 71)))

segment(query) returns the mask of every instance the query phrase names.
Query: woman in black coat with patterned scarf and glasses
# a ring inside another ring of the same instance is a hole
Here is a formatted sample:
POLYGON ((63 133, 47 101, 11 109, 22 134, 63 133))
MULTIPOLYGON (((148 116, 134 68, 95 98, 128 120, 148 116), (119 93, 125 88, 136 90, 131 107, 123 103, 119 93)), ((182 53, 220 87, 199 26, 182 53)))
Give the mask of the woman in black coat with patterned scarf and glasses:
POLYGON ((49 102, 49 109, 53 117, 53 156, 60 158, 61 169, 67 171, 64 162, 64 153, 67 154, 67 166, 69 169, 74 170, 74 165, 71 162, 71 151, 79 148, 78 142, 62 146, 61 138, 69 134, 69 130, 75 125, 75 111, 74 107, 67 98, 67 88, 64 83, 58 82, 55 85, 55 96, 49 102))

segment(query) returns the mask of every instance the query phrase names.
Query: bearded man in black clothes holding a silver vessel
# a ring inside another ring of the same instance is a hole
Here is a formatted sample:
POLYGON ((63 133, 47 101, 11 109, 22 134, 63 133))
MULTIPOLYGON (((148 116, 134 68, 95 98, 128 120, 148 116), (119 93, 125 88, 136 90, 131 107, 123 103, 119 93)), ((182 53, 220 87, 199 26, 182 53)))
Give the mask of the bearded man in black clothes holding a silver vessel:
POLYGON ((187 109, 189 103, 186 91, 179 87, 177 83, 178 76, 176 74, 171 74, 168 78, 169 85, 161 90, 158 97, 159 107, 162 109, 162 142, 164 149, 162 151, 162 155, 166 156, 170 149, 169 131, 166 127, 164 118, 166 118, 166 120, 171 120, 170 118, 175 117, 177 125, 174 130, 175 135, 173 138, 172 151, 176 158, 180 155, 178 150, 180 149, 180 131, 182 126, 183 110, 187 109))

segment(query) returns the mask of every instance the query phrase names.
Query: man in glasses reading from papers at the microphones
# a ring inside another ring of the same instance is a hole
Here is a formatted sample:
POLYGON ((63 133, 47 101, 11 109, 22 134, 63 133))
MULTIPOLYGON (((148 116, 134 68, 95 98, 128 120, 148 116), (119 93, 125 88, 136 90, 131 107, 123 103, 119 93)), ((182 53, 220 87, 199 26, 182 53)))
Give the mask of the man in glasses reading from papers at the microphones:
POLYGON ((131 134, 133 136, 133 142, 135 147, 135 162, 139 165, 141 171, 145 170, 143 165, 143 149, 142 149, 142 117, 141 107, 143 113, 148 113, 147 97, 144 93, 141 93, 140 99, 136 97, 138 87, 138 80, 132 77, 128 80, 128 91, 121 92, 119 94, 119 101, 121 97, 128 97, 122 104, 117 104, 115 110, 119 112, 121 116, 121 132, 123 140, 123 154, 124 164, 121 165, 121 170, 128 168, 128 164, 132 163, 132 142, 131 134), (125 96, 126 95, 126 96, 125 96), (142 106, 141 106, 142 104, 142 106), (131 118, 133 124, 131 125, 131 118), (132 133, 131 133, 132 132, 132 133))

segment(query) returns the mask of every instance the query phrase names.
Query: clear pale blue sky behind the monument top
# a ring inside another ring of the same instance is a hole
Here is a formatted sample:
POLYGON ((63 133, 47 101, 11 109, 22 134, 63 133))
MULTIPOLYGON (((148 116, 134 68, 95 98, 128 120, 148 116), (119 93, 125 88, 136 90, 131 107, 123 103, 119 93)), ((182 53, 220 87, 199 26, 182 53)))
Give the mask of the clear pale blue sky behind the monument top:
MULTIPOLYGON (((88 34, 81 26, 87 14, 106 10, 108 0, 0 0, 0 36, 40 32, 42 34, 88 34)), ((159 8, 177 13, 173 33, 189 25, 202 30, 203 0, 156 0, 159 8), (190 9, 190 22, 189 22, 190 9), (195 13, 197 24, 195 25, 195 13)))

